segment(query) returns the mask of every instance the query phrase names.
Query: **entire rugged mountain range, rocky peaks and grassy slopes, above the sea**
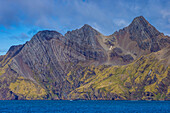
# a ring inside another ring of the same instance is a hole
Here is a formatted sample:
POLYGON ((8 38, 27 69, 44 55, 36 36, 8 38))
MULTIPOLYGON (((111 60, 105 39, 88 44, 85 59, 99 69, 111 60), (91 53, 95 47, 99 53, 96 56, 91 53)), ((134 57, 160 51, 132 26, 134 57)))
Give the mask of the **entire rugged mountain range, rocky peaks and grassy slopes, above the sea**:
POLYGON ((144 17, 104 36, 39 31, 0 56, 0 99, 170 100, 170 37, 144 17))

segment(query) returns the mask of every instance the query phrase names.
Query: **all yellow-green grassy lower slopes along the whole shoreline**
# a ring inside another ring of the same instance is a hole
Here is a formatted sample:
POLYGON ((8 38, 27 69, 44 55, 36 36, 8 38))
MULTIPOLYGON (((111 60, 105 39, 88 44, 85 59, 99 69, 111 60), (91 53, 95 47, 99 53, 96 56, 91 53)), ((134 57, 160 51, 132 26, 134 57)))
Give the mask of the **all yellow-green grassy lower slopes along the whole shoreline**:
POLYGON ((79 63, 65 77, 63 93, 54 83, 43 84, 21 77, 10 69, 10 60, 1 61, 2 99, 91 99, 91 100, 170 100, 169 48, 123 66, 83 66, 79 63), (3 62, 3 63, 2 63, 3 62), (3 75, 6 74, 6 76, 3 75), (54 91, 53 91, 54 90, 54 91))

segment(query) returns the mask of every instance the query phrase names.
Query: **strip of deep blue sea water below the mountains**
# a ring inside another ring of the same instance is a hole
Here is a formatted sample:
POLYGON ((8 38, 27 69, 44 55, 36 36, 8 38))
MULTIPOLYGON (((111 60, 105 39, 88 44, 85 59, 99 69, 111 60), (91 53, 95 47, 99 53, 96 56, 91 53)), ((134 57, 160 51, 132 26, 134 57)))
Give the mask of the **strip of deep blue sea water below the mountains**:
POLYGON ((170 101, 1 100, 8 113, 170 113, 170 101))

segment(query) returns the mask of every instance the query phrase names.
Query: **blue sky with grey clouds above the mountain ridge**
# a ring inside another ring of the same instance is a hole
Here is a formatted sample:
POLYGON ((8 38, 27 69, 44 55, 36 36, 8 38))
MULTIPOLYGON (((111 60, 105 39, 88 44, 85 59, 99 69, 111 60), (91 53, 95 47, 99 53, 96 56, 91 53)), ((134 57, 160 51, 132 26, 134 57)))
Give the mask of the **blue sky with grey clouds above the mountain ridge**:
POLYGON ((170 36, 170 0, 0 0, 0 55, 40 30, 64 35, 89 24, 111 35, 141 15, 170 36))

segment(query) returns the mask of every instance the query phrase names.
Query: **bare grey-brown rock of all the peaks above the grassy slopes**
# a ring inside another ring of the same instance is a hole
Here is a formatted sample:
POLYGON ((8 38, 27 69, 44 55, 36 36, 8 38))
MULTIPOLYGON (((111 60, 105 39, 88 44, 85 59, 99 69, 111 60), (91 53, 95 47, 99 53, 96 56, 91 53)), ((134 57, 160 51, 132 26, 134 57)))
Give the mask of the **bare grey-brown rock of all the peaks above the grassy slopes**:
MULTIPOLYGON (((110 36, 103 36, 87 24, 64 36, 56 31, 40 31, 24 45, 12 46, 5 56, 0 56, 0 77, 1 70, 5 70, 2 77, 8 81, 4 83, 6 89, 0 88, 3 92, 0 99, 26 98, 10 92, 10 83, 16 82, 18 76, 44 88, 47 98, 67 99, 68 94, 81 86, 81 72, 86 67, 108 62, 110 65, 129 64, 169 43, 170 38, 158 32, 143 17, 135 18, 128 27, 110 36), (73 72, 69 74, 70 71, 73 72), (11 76, 14 80, 9 82, 7 78, 11 76)), ((95 72, 86 77, 93 75, 95 72)), ((127 87, 131 86, 127 84, 127 87)), ((102 97, 102 91, 98 93, 102 97)), ((117 94, 109 95, 122 99, 117 94)), ((88 98, 88 95, 83 96, 88 98)))

